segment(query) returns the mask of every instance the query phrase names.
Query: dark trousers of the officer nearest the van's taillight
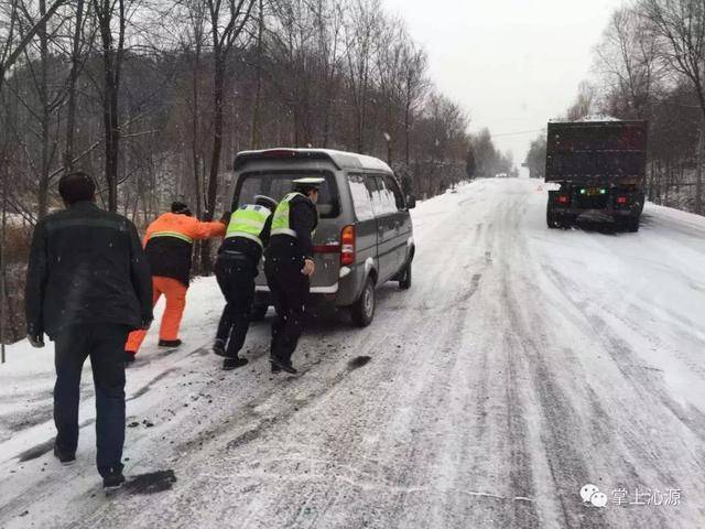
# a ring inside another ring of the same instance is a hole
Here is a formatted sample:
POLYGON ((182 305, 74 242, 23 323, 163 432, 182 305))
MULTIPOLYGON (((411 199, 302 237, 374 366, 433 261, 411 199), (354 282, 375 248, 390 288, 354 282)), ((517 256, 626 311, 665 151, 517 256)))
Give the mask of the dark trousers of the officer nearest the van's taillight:
POLYGON ((304 324, 310 283, 308 277, 301 273, 302 268, 300 259, 269 257, 264 261, 267 284, 276 310, 271 355, 285 361, 291 361, 304 324))

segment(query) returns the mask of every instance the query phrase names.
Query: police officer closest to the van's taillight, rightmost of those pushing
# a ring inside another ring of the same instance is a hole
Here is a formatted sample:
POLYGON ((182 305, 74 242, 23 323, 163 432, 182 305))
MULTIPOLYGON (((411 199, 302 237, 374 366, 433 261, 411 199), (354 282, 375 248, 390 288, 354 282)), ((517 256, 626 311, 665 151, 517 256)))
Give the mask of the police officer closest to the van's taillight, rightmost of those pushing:
POLYGON ((312 239, 318 225, 316 202, 323 182, 321 177, 294 180, 293 192, 282 198, 273 215, 264 252, 264 273, 276 310, 270 349, 272 373, 297 373, 291 357, 303 328, 310 278, 315 270, 312 239))

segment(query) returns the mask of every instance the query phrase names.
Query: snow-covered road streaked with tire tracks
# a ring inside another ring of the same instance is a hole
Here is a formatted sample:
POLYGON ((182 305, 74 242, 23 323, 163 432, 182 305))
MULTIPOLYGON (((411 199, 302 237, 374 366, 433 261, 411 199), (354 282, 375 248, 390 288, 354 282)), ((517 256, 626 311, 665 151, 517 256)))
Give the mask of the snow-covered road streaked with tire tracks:
POLYGON ((115 497, 89 374, 65 468, 51 350, 11 347, 0 527, 705 527, 705 219, 648 206, 615 235, 549 230, 544 210, 525 180, 420 204, 412 289, 383 287, 365 330, 316 322, 299 377, 269 374, 269 319, 250 365, 221 371, 221 301, 197 281, 188 347, 160 355, 152 333, 128 371, 133 482, 115 497))

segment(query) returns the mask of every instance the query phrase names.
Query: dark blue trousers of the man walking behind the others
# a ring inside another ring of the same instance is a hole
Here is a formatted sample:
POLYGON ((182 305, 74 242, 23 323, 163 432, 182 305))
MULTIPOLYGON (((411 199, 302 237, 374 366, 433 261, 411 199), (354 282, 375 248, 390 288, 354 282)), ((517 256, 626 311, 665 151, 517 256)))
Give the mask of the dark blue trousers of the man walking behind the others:
POLYGON ((90 357, 96 387, 97 464, 100 475, 122 469, 124 443, 124 341, 129 328, 115 324, 70 325, 55 336, 54 423, 56 445, 75 452, 78 445, 80 373, 90 357))

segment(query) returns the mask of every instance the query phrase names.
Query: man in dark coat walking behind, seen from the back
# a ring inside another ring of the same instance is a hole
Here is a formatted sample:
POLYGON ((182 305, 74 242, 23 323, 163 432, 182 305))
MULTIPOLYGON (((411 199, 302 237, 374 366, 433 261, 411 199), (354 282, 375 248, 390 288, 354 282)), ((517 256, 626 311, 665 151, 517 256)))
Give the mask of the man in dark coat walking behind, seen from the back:
POLYGON ((54 342, 54 455, 76 460, 78 399, 84 361, 90 357, 96 387, 97 466, 106 488, 118 487, 124 442, 127 335, 152 322, 152 280, 134 225, 95 204, 85 173, 63 176, 66 209, 34 228, 26 278, 28 338, 54 342))

